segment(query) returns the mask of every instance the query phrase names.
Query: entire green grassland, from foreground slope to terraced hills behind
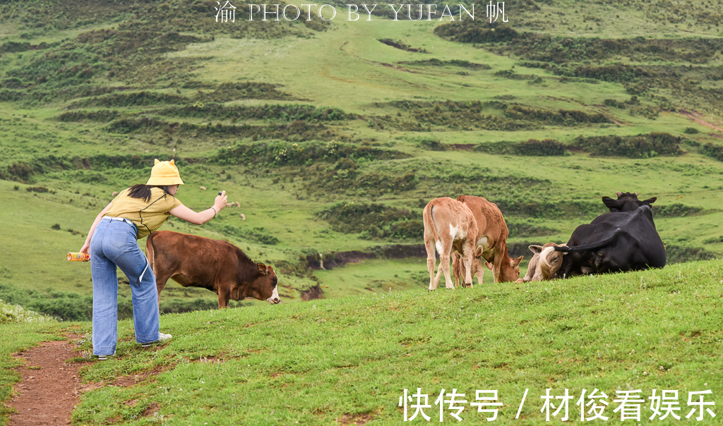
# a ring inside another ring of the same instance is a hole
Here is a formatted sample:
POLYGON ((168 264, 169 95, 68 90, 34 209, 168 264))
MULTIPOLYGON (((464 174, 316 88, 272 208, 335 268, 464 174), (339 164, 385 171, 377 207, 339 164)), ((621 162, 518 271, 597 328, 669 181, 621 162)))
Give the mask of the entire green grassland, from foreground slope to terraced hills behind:
MULTIPOLYGON (((547 384, 715 396, 719 381, 701 372, 720 362, 723 6, 508 1, 508 22, 490 23, 484 3, 454 22, 406 9, 393 20, 386 4, 348 21, 346 4, 330 4, 333 19, 312 7, 294 22, 249 21, 248 4, 216 22, 221 5, 204 0, 0 4, 0 300, 76 321, 7 319, 4 366, 69 326, 90 331, 90 264, 65 255, 115 191, 174 158, 185 205, 226 190, 234 206, 161 229, 272 265, 284 303, 217 312, 212 292, 169 281, 162 321, 179 339, 140 351, 124 322, 120 356, 83 377, 163 373, 86 394, 74 423, 395 424, 402 389, 418 387, 467 399, 498 388, 497 421, 515 424, 544 421, 540 407, 514 415, 520 391, 537 404, 547 384), (616 191, 657 197, 667 269, 529 286, 486 271, 473 289, 424 291, 429 200, 497 204, 524 274, 528 245, 566 242, 616 191), (143 402, 122 404, 132 400, 143 402)), ((479 422, 469 408, 462 417, 479 422)))

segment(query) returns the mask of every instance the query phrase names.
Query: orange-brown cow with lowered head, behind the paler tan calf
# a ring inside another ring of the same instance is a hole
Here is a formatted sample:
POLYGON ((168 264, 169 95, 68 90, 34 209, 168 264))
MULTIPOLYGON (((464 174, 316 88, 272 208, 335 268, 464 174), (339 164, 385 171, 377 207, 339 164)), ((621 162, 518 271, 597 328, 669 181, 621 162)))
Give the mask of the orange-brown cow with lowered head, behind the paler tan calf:
MULTIPOLYGON (((474 214, 477 223, 475 244, 477 250, 482 248, 484 260, 492 263, 492 276, 497 282, 512 282, 520 277, 519 264, 523 256, 512 259, 507 251, 509 231, 502 212, 496 204, 490 203, 481 196, 461 195, 461 201, 474 214)), ((482 261, 476 265, 477 281, 482 284, 482 261)))

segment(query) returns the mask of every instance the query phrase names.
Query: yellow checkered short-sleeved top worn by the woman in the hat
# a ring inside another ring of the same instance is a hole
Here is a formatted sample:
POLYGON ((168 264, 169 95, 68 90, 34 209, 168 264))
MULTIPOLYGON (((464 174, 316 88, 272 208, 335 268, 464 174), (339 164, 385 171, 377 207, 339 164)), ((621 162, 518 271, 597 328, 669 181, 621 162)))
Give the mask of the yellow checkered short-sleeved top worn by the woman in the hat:
POLYGON ((125 217, 138 228, 136 238, 140 240, 150 232, 158 230, 166 222, 168 213, 182 203, 176 197, 166 194, 161 188, 150 188, 150 200, 134 199, 128 196, 128 188, 121 191, 112 201, 106 216, 125 217))

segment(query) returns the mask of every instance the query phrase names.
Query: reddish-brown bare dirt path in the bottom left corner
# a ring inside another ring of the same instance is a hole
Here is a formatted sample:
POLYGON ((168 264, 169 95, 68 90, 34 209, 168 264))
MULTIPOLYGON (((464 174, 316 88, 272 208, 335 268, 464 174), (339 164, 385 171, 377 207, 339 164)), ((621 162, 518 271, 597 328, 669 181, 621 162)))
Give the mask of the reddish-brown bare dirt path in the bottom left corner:
POLYGON ((70 425, 70 413, 87 390, 78 376, 83 363, 66 362, 80 356, 75 337, 43 342, 17 355, 25 365, 17 368, 21 379, 14 386, 14 399, 5 403, 17 410, 10 414, 10 426, 70 425))

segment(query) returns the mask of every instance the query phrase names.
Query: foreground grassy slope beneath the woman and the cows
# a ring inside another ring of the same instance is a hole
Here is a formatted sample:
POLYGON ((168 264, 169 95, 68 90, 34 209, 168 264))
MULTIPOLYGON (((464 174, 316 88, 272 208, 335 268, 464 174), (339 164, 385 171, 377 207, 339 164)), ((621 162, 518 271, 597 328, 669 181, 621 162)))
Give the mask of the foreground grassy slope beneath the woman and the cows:
MULTIPOLYGON (((583 389, 594 388, 607 395, 609 421, 620 421, 616 392, 636 389, 646 400, 644 419, 653 389, 658 396, 677 390, 683 417, 692 408, 688 392, 710 389, 706 401, 715 401, 720 415, 721 297, 723 262, 700 261, 565 281, 171 314, 161 317, 161 328, 174 339, 155 349, 134 344, 132 323, 122 321, 117 356, 81 370, 84 380, 106 386, 82 396, 73 422, 398 425, 403 389, 417 388, 429 395, 424 412, 434 422, 434 401, 453 388, 465 394, 460 415, 470 424, 487 417, 469 404, 476 390, 498 391, 504 405, 496 422, 503 425, 544 424, 547 388, 574 396, 571 421, 580 416, 575 403, 583 389)), ((90 335, 90 323, 68 326, 90 335)), ((0 327, 4 341, 12 338, 7 331, 26 332, 0 327)), ((77 342, 86 356, 89 340, 77 342)), ((16 349, 0 345, 6 358, 16 349)), ((443 416, 456 421, 448 404, 443 416)), ((705 414, 699 424, 719 422, 705 414)))

